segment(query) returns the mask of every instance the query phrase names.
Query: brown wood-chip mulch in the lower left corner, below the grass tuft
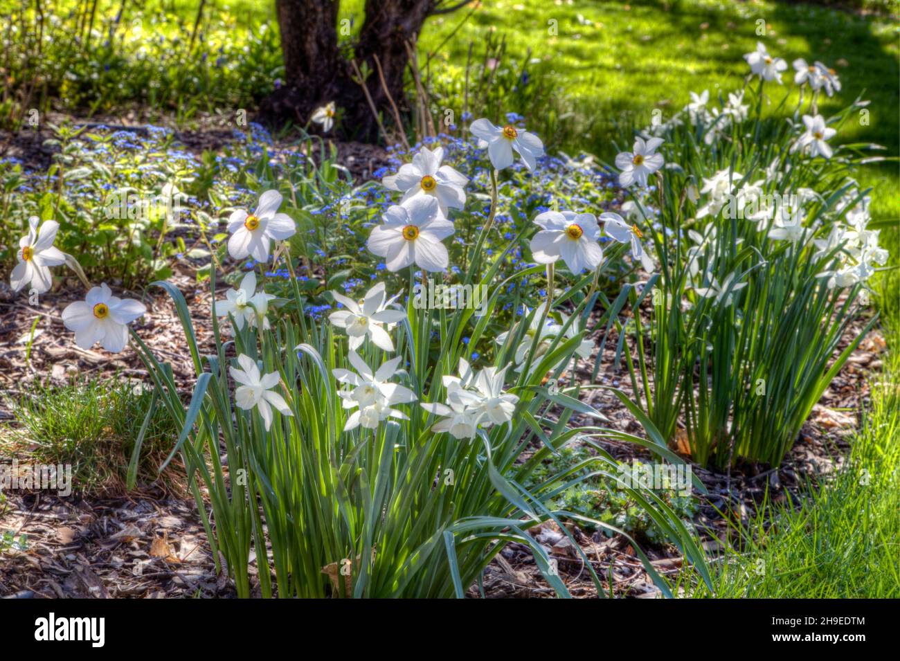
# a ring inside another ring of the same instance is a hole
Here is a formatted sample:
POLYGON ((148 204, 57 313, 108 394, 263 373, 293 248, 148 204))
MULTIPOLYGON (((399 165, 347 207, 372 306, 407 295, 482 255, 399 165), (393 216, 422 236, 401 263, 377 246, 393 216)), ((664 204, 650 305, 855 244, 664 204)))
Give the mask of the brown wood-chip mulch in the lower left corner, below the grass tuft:
POLYGON ((215 572, 193 500, 154 490, 90 500, 14 495, 3 528, 25 550, 7 550, 0 594, 20 598, 229 597, 215 572))

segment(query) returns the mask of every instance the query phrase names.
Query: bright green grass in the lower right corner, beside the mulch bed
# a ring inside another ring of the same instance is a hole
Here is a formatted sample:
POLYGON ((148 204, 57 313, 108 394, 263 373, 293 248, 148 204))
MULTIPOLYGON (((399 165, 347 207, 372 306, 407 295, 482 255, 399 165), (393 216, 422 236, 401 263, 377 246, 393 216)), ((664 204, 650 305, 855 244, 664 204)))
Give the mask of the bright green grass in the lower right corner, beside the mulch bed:
MULTIPOLYGON (((717 597, 900 596, 900 360, 886 353, 845 468, 794 509, 765 507, 729 551, 717 597)), ((695 596, 712 596, 702 582, 695 596)))

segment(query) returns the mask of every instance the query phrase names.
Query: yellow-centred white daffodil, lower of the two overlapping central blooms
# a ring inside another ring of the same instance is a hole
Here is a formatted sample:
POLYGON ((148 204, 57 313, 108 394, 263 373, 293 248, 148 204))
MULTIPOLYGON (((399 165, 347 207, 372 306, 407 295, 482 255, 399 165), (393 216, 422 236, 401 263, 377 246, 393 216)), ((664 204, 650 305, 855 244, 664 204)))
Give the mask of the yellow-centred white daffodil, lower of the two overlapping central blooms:
POLYGON ((400 271, 411 264, 429 272, 446 269, 449 255, 441 241, 455 229, 441 214, 437 198, 418 195, 389 207, 382 219, 383 224, 372 230, 366 246, 384 257, 388 271, 400 271))

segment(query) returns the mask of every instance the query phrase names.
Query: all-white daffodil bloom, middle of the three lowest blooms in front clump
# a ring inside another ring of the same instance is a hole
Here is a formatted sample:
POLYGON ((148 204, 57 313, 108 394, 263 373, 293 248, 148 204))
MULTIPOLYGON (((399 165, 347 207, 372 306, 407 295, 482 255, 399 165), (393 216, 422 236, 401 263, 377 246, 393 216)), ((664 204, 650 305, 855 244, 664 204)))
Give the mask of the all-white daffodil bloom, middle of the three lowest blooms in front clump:
POLYGON ((397 366, 401 362, 401 356, 385 362, 375 372, 365 364, 365 361, 355 351, 351 351, 347 358, 358 374, 343 369, 331 371, 338 383, 352 386, 352 389, 344 389, 338 392, 338 395, 344 400, 344 408, 358 407, 358 410, 354 411, 347 418, 344 431, 348 432, 360 425, 365 427, 365 429, 375 429, 381 421, 386 420, 388 417, 407 419, 406 415, 391 406, 393 404, 414 402, 416 401, 416 395, 405 386, 388 381, 397 373, 397 366))

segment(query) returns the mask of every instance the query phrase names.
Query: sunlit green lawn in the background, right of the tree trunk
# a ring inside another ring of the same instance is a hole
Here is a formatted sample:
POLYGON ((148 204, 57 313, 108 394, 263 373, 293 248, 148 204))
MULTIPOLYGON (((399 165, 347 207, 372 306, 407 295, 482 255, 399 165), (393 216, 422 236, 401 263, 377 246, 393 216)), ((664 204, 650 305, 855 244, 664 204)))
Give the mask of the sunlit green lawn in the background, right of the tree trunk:
MULTIPOLYGON (((560 94, 557 114, 571 113, 563 131, 543 135, 555 147, 583 149, 598 156, 616 153, 632 127, 650 123, 651 112, 679 110, 689 92, 708 89, 711 97, 743 85, 749 68, 743 54, 763 40, 770 52, 788 61, 782 75, 785 92, 793 94, 795 58, 822 60, 842 77, 840 97, 825 99, 824 115, 861 95, 869 106, 869 125, 853 125, 837 142, 871 141, 900 153, 900 60, 896 22, 865 18, 813 4, 771 2, 551 2, 496 0, 484 2, 462 26, 467 10, 427 23, 421 48, 436 50, 434 67, 460 76, 469 42, 479 52, 488 33, 502 34, 510 58, 532 58, 552 76, 560 94), (757 35, 758 21, 766 35, 757 35), (548 32, 555 21, 556 36, 548 32), (458 30, 457 30, 458 28, 458 30), (451 33, 455 36, 447 39, 451 33)), ((781 101, 773 94, 771 103, 781 101)), ((547 109, 509 108, 524 114, 540 130, 547 109)), ((496 120, 496 118, 493 118, 496 120)), ((875 188, 873 217, 897 219, 896 162, 870 166, 860 183, 875 188)))

